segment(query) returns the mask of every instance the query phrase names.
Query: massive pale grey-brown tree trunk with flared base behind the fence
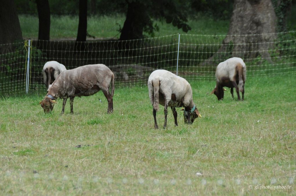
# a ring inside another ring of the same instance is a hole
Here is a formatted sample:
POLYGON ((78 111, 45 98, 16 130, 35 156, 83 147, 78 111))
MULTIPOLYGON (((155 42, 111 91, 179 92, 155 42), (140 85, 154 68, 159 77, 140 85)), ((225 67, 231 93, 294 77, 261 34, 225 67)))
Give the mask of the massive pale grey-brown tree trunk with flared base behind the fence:
MULTIPOLYGON (((271 0, 235 0, 229 31, 221 48, 208 60, 221 59, 221 54, 242 59, 261 55, 268 61, 268 48, 276 32, 276 15, 271 0), (237 36, 239 35, 239 36, 237 36)), ((210 61, 204 61, 202 65, 210 61)))

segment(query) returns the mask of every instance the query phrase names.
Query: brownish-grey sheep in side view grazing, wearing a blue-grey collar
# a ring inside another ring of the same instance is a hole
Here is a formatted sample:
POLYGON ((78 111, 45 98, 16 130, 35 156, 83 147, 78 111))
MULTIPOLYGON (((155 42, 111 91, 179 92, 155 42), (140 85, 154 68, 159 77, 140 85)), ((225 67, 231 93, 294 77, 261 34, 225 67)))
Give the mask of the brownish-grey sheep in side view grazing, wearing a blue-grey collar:
POLYGON ((52 111, 55 99, 63 98, 62 113, 65 111, 67 98, 70 97, 71 114, 73 114, 73 100, 78 96, 89 96, 102 89, 108 101, 107 113, 113 112, 114 74, 103 64, 85 65, 75 69, 63 71, 49 86, 48 93, 40 102, 44 113, 52 111), (111 94, 109 92, 112 85, 111 94))

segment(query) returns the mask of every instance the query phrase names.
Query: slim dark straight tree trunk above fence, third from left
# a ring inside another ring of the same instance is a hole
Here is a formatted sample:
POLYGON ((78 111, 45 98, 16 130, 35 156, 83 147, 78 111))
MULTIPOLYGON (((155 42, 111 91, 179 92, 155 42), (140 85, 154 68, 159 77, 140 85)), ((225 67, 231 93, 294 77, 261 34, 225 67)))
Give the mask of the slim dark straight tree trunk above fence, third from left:
POLYGON ((79 0, 79 23, 76 41, 86 41, 86 30, 87 30, 87 1, 79 0))

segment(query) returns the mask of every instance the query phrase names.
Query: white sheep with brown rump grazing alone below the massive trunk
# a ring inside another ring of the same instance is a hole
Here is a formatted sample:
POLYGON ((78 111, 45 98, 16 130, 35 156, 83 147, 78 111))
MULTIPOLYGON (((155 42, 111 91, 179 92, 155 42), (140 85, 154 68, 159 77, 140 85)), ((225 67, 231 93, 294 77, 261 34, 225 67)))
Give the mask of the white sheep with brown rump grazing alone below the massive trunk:
POLYGON ((215 94, 218 100, 224 97, 223 86, 231 88, 230 92, 233 97, 233 88, 237 91, 237 99, 240 100, 239 91, 242 92, 244 100, 244 83, 246 82, 246 64, 241 58, 233 57, 219 63, 216 69, 216 87, 211 92, 215 94))

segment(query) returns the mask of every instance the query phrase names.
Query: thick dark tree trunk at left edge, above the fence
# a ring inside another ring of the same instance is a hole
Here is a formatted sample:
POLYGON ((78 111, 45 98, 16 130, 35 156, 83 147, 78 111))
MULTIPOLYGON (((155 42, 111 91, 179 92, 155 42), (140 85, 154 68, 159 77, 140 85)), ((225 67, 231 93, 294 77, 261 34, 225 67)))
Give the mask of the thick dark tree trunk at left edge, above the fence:
POLYGON ((14 0, 1 0, 0 44, 22 40, 22 31, 14 0))

